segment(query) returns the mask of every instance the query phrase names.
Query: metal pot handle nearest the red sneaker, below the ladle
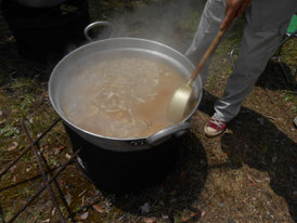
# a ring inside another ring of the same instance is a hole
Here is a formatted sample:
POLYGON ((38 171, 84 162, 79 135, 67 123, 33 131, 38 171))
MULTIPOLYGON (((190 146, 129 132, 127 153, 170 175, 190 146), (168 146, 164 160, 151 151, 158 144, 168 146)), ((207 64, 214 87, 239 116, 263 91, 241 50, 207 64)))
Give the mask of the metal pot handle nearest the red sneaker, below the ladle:
POLYGON ((175 136, 183 135, 186 132, 186 130, 190 129, 190 127, 191 127, 191 123, 189 121, 180 122, 178 124, 171 126, 167 129, 160 130, 150 135, 148 137, 146 137, 146 143, 148 145, 158 145, 165 142, 166 140, 168 140, 169 137, 171 137, 172 135, 175 136))

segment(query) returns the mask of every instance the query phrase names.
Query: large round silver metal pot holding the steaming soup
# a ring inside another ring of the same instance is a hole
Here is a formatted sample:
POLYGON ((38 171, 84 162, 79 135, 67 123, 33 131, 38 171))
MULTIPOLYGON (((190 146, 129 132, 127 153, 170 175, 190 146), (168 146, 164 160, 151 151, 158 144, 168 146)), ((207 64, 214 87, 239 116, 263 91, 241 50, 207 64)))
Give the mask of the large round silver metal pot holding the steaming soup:
MULTIPOLYGON (((95 22, 90 24, 85 29, 86 37, 91 40, 88 31, 98 25, 112 26, 107 22, 95 22)), ((65 124, 73 129, 78 135, 95 146, 101 148, 116 150, 116 152, 134 152, 152 148, 156 145, 164 143, 172 136, 181 136, 191 127, 190 119, 194 114, 202 99, 202 80, 201 77, 196 78, 193 83, 195 94, 195 106, 193 110, 185 117, 180 123, 166 128, 156 132, 148 137, 141 139, 116 139, 106 137, 103 135, 94 134, 86 131, 72 121, 63 114, 61 92, 64 90, 64 86, 67 84, 67 80, 70 76, 76 75, 75 70, 77 66, 83 66, 91 60, 104 60, 111 55, 147 55, 154 56, 158 61, 167 63, 171 67, 178 69, 181 75, 190 77, 194 70, 193 64, 181 53, 169 48, 163 43, 139 38, 109 38, 105 40, 96 40, 85 44, 75 51, 67 54, 53 69, 49 81, 49 95, 50 101, 55 112, 63 119, 65 124)))

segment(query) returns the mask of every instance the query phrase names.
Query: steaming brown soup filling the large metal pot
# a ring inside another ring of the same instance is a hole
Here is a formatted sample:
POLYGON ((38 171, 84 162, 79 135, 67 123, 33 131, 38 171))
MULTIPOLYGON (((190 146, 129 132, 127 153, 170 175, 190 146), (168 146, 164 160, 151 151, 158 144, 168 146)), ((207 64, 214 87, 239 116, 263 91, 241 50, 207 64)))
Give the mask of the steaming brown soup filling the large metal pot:
POLYGON ((182 81, 176 69, 154 60, 107 60, 68 80, 62 109, 87 131, 118 139, 146 137, 172 124, 167 107, 182 81))

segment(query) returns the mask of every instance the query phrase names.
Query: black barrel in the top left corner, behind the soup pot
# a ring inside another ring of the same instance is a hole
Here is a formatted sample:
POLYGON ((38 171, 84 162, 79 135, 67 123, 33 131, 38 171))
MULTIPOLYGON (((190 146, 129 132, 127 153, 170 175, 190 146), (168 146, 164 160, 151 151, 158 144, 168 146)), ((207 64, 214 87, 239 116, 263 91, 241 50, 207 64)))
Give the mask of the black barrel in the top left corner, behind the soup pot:
POLYGON ((85 41, 83 29, 90 23, 86 0, 66 0, 48 8, 30 8, 15 0, 3 0, 2 14, 26 58, 59 61, 72 48, 85 41))

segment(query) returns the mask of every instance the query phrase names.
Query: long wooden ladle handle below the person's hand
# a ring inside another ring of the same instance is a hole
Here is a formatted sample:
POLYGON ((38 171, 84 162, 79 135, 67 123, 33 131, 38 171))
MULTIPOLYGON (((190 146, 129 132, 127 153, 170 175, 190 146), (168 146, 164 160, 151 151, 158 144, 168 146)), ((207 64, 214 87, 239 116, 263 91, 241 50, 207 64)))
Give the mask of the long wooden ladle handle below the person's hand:
POLYGON ((199 61, 199 64, 197 65, 196 69, 192 73, 192 76, 188 82, 189 86, 192 84, 192 82, 196 79, 198 73, 201 71, 202 67, 204 66, 204 64, 206 63, 207 58, 210 56, 210 54, 212 53, 212 51, 215 50, 215 48, 218 45, 218 43, 220 42, 221 38, 223 37, 224 32, 227 31, 229 25, 225 26, 224 29, 221 29, 216 38, 212 40, 211 44, 208 47, 207 51, 204 53, 202 60, 199 61))

